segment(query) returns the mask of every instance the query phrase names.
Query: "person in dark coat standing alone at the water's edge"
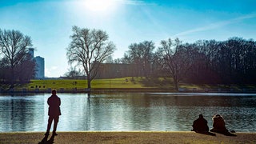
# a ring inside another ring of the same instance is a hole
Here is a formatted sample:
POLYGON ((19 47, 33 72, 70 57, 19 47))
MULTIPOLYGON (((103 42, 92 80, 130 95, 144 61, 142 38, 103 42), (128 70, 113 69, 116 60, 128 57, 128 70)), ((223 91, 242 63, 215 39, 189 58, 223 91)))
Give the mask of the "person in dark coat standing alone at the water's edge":
POLYGON ((56 129, 58 125, 58 117, 59 115, 61 115, 61 109, 59 107, 61 106, 61 98, 58 98, 58 96, 56 95, 57 94, 56 90, 52 90, 51 94, 52 95, 47 100, 47 103, 49 105, 49 110, 48 110, 49 119, 48 119, 48 125, 47 125, 47 130, 45 135, 49 135, 50 126, 53 120, 54 120, 53 135, 58 135, 56 134, 56 129))

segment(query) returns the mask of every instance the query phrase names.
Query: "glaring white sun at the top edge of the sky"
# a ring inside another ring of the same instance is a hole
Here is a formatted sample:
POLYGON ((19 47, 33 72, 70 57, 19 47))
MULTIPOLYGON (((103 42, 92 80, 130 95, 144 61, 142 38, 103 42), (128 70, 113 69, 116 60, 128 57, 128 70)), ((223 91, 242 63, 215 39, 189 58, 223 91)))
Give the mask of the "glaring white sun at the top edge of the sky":
POLYGON ((94 12, 111 11, 118 5, 118 0, 86 0, 87 10, 94 12))

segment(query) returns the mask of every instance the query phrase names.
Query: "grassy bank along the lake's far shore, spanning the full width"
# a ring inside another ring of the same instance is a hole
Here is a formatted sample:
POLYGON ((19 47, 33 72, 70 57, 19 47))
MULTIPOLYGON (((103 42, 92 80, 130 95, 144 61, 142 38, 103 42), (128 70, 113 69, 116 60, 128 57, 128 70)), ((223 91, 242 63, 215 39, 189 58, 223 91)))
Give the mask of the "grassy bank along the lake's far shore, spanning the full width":
MULTIPOLYGON (((175 91, 171 78, 110 78, 94 79, 91 82, 91 90, 94 91, 175 91)), ((250 92, 256 91, 256 86, 238 85, 194 85, 181 83, 182 90, 200 92, 250 92)), ((10 86, 1 85, 1 90, 8 90, 10 86)), ((87 88, 86 80, 76 79, 51 79, 51 80, 31 80, 29 84, 16 85, 15 90, 61 90, 63 92, 72 90, 84 91, 87 88)), ((48 91, 47 91, 48 92, 48 91)))

